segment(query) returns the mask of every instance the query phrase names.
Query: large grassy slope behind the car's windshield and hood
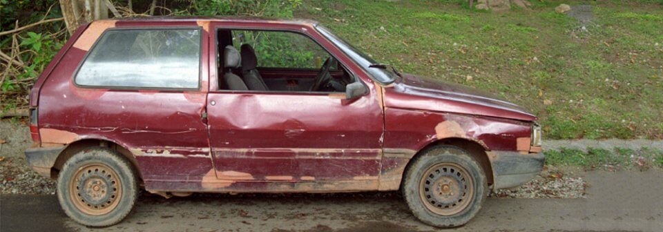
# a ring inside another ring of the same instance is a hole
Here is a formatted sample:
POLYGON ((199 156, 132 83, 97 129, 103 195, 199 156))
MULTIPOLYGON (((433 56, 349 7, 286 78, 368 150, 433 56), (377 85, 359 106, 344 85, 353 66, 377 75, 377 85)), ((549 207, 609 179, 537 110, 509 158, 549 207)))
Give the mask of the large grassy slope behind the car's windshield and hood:
POLYGON ((505 13, 464 2, 307 1, 296 17, 322 22, 404 72, 520 104, 549 139, 663 139, 658 1, 566 1, 593 5, 586 25, 550 1, 505 13))

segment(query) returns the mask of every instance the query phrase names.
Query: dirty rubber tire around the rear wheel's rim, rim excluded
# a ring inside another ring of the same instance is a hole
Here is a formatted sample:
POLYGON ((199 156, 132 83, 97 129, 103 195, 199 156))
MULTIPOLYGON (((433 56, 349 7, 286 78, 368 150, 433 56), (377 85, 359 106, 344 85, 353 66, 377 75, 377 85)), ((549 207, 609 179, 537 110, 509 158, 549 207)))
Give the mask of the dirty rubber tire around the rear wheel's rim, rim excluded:
POLYGON ((133 210, 138 199, 139 186, 135 168, 131 162, 110 148, 86 148, 67 160, 57 178, 57 199, 60 206, 69 216, 80 224, 92 227, 112 226, 124 220, 133 210), (90 162, 99 162, 113 168, 122 184, 122 196, 119 204, 111 212, 104 215, 88 215, 81 213, 70 202, 68 195, 69 181, 82 165, 90 162))

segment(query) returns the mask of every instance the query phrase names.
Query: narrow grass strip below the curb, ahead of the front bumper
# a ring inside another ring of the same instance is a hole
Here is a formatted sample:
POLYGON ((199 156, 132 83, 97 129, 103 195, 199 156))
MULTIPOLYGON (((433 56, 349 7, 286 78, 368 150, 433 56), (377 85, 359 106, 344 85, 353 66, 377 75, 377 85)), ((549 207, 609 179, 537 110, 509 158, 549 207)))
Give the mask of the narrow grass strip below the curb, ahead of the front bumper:
POLYGON ((587 151, 562 148, 544 154, 546 164, 552 166, 580 166, 590 170, 663 168, 663 151, 646 147, 637 151, 628 148, 588 148, 587 151))

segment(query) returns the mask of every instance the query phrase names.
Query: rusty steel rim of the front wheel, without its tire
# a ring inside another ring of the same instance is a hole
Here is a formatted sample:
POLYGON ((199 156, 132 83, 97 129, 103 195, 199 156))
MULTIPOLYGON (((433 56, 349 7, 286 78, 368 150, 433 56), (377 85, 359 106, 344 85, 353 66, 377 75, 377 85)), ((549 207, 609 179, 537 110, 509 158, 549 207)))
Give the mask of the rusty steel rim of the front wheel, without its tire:
POLYGON ((419 197, 426 209, 432 213, 454 215, 466 209, 472 202, 474 180, 459 164, 435 164, 421 177, 419 197))

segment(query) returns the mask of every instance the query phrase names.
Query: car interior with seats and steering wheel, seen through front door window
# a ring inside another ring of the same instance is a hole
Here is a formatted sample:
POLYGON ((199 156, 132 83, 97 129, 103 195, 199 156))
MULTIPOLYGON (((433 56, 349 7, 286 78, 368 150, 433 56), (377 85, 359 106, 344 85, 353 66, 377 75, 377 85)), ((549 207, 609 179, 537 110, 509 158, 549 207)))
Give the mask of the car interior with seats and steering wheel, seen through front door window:
POLYGON ((318 43, 296 32, 218 30, 220 90, 345 93, 356 78, 318 43))

